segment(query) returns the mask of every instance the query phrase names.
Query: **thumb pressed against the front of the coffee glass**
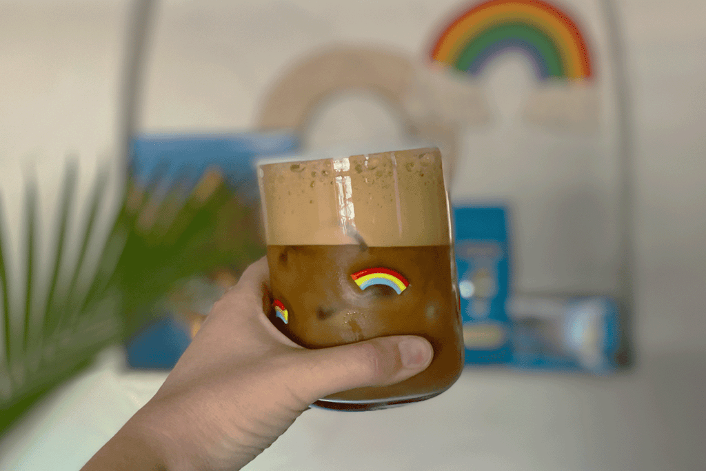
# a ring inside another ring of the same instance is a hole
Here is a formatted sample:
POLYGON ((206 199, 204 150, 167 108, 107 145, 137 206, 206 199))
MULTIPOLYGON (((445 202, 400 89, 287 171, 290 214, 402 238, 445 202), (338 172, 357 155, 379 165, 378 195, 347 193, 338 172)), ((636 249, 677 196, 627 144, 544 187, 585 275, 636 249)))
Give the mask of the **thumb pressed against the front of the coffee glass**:
POLYGON ((424 338, 395 335, 302 354, 301 397, 313 403, 344 390, 404 381, 429 366, 433 348, 424 338))

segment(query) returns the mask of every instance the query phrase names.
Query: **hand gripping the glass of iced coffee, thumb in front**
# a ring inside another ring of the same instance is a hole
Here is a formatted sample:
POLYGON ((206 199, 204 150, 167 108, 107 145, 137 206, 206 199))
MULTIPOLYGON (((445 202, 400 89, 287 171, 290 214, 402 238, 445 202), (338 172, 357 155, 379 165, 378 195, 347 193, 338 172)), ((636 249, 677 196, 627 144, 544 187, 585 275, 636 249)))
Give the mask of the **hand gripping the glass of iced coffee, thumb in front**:
POLYGON ((213 306, 167 380, 84 470, 234 470, 249 463, 311 403, 403 381, 433 350, 398 335, 306 350, 265 316, 265 258, 213 306))

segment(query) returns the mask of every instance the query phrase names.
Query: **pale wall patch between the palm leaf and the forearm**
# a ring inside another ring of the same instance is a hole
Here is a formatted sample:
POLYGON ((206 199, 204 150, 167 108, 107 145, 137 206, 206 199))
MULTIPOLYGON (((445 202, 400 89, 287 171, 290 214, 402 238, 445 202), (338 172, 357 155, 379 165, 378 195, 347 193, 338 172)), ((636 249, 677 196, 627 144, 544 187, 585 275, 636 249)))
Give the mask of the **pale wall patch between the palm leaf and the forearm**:
POLYGON ((128 371, 119 348, 42 400, 0 443, 0 470, 78 470, 142 407, 166 373, 128 371))

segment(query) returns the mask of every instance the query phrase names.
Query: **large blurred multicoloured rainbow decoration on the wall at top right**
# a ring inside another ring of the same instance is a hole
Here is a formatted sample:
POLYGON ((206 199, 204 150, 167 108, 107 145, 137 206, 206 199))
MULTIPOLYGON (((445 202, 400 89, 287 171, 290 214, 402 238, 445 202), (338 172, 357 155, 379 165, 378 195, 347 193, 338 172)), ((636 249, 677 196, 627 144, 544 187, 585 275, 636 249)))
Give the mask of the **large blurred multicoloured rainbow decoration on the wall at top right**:
POLYGON ((473 6, 444 28, 431 60, 477 76, 508 50, 524 53, 540 79, 591 78, 593 73, 576 23, 541 0, 489 0, 473 6))

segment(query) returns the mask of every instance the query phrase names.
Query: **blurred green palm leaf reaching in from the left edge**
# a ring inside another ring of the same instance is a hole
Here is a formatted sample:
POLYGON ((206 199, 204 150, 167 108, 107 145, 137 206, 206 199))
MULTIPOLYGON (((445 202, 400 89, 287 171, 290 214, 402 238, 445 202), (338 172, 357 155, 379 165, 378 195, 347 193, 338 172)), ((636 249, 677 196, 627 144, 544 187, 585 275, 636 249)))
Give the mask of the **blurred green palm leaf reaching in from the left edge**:
POLYGON ((102 242, 102 251, 89 260, 89 248, 101 242, 96 221, 104 210, 108 173, 98 172, 85 201, 80 237, 73 242, 68 228, 78 207, 78 167, 75 161, 69 162, 59 192, 58 217, 49 234, 54 247, 49 263, 42 261, 35 247, 42 235, 37 222, 39 193, 35 181, 28 180, 22 222, 26 243, 23 302, 11 299, 17 280, 8 273, 10 248, 0 212, 5 357, 0 375, 9 388, 0 394, 0 431, 44 391, 88 364, 97 350, 150 321, 150 306, 177 282, 214 268, 244 268, 264 253, 257 232, 251 229, 258 224, 257 209, 241 203, 219 173, 208 172, 187 194, 186 177, 167 184, 165 171, 166 167, 155 172, 147 184, 133 179, 124 183, 121 209, 102 242), (78 247, 71 251, 74 259, 67 258, 69 240, 78 247), (38 261, 42 263, 35 267, 38 261), (43 266, 48 267, 48 275, 41 272, 43 266), (62 270, 66 266, 70 269, 62 270), (95 267, 90 282, 79 282, 90 266, 95 267), (37 292, 42 275, 49 280, 46 293, 37 292), (42 309, 38 299, 46 299, 42 309), (21 326, 13 324, 17 320, 21 326), (18 331, 20 338, 13 338, 18 331))

